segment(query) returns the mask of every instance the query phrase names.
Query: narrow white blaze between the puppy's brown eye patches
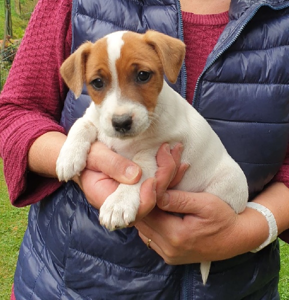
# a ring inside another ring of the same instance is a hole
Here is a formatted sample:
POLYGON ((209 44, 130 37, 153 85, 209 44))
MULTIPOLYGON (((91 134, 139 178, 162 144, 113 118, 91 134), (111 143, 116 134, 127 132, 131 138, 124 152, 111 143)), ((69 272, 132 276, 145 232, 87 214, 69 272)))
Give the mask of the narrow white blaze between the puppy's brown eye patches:
POLYGON ((115 63, 116 60, 120 58, 121 47, 124 44, 122 37, 125 32, 127 31, 117 31, 107 35, 107 53, 112 75, 112 87, 116 90, 119 89, 119 86, 115 63))

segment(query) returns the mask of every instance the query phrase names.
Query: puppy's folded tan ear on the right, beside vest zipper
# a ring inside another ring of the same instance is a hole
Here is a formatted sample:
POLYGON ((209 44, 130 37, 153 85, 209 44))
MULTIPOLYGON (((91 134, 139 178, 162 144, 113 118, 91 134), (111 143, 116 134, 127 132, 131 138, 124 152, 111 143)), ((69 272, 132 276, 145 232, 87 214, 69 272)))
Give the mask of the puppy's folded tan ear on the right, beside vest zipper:
POLYGON ((168 80, 175 83, 185 57, 185 44, 177 38, 153 30, 148 30, 144 39, 159 55, 168 80))

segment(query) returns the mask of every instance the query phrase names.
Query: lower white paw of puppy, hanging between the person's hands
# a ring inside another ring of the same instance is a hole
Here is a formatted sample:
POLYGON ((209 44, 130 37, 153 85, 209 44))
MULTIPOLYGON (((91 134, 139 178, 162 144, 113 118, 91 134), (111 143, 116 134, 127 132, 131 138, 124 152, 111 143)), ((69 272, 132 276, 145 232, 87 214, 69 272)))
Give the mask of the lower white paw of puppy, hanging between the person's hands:
POLYGON ((135 220, 140 199, 132 193, 122 196, 117 190, 109 195, 99 210, 100 223, 109 230, 127 227, 135 220), (134 197, 133 197, 134 195, 134 197))

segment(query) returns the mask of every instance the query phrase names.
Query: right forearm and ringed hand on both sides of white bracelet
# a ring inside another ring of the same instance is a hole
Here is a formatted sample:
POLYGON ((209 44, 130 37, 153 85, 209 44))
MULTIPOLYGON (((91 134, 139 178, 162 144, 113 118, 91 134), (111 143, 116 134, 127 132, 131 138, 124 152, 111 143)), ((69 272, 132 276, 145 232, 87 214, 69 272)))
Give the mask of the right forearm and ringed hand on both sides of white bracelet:
MULTIPOLYGON (((272 211, 278 233, 289 228, 288 199, 289 189, 282 182, 272 182, 253 199, 272 211)), ((150 238, 150 246, 170 264, 230 258, 256 248, 268 237, 268 224, 260 212, 246 208, 235 214, 212 194, 167 190, 157 205, 136 227, 143 241, 150 238), (166 211, 185 215, 180 218, 166 211)))

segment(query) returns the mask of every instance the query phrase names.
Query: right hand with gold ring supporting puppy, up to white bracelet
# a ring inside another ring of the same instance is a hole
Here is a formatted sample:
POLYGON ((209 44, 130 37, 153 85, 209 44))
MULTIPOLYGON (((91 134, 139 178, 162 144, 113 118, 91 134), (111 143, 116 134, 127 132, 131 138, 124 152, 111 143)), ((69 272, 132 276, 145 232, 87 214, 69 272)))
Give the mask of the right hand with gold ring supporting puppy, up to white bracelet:
POLYGON ((213 194, 180 190, 167 190, 157 206, 135 226, 142 240, 147 243, 150 238, 150 247, 169 264, 221 260, 254 247, 246 240, 246 226, 242 228, 248 217, 259 217, 252 209, 236 214, 213 194))

